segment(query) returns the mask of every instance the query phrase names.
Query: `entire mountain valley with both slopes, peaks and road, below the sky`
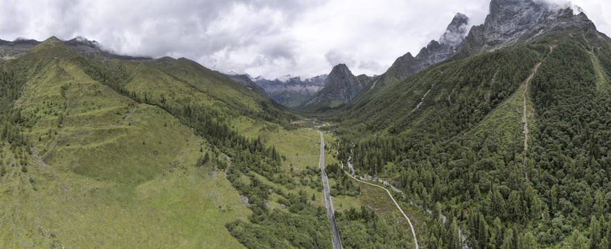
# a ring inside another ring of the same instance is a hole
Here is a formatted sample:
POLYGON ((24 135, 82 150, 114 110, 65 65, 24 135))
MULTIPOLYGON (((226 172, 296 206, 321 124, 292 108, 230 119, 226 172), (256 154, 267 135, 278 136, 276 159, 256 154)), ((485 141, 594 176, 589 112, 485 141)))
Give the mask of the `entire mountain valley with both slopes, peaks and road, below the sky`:
POLYGON ((611 248, 611 38, 468 25, 303 80, 0 40, 0 248, 611 248))

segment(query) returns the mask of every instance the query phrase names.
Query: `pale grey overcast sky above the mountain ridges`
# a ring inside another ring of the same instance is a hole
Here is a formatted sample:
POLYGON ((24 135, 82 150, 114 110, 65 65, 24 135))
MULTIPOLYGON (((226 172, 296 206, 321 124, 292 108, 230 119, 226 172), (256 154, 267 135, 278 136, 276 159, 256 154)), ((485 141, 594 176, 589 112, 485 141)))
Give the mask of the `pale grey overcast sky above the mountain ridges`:
MULTIPOLYGON (((554 1, 567 4, 565 0, 554 1)), ((457 12, 481 24, 490 0, 0 0, 0 39, 78 35, 127 55, 187 57, 214 70, 312 77, 345 63, 384 73, 439 39, 457 12)), ((611 1, 572 1, 611 35, 611 1)))

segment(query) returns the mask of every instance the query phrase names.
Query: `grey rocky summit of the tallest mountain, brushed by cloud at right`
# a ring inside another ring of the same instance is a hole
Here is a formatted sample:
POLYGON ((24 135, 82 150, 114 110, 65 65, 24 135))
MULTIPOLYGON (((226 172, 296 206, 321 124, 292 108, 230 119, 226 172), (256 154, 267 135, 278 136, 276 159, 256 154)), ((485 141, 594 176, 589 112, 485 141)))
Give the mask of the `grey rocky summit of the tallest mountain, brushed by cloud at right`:
POLYGON ((560 8, 544 1, 493 0, 484 24, 471 28, 459 46, 459 56, 529 42, 563 30, 595 31, 596 27, 583 12, 574 15, 571 8, 560 8))

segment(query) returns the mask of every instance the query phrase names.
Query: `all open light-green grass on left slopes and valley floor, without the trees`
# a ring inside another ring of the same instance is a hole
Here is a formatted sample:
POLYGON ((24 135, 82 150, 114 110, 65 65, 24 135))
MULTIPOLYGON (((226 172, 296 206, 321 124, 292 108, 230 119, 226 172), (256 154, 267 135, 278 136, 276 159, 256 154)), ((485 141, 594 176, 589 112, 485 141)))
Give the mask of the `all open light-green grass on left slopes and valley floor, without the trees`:
MULTIPOLYGON (((15 106, 33 153, 0 147, 0 248, 242 248, 225 224, 251 210, 208 163, 195 167, 210 145, 167 111, 140 104, 92 79, 75 53, 57 39, 19 59, 36 66, 15 106), (44 63, 43 63, 44 62, 44 63), (205 152, 205 151, 204 151, 205 152), (24 163, 26 166, 21 165, 24 163)), ((259 137, 283 155, 285 174, 317 168, 319 133, 287 131, 241 116, 260 111, 263 97, 234 86, 186 59, 111 62, 130 74, 127 91, 190 102, 226 113, 233 129, 259 137), (245 97, 246 96, 246 97, 245 97)), ((337 163, 335 138, 325 134, 325 163, 337 163)), ((231 165, 229 166, 231 167, 231 165)), ((286 192, 303 189, 324 206, 318 188, 263 183, 286 192)), ((321 181, 320 175, 307 176, 321 181)), ((332 180, 333 181, 333 180, 332 180)), ((277 194, 269 199, 278 208, 277 194)), ((366 205, 362 196, 333 197, 336 210, 366 205)))

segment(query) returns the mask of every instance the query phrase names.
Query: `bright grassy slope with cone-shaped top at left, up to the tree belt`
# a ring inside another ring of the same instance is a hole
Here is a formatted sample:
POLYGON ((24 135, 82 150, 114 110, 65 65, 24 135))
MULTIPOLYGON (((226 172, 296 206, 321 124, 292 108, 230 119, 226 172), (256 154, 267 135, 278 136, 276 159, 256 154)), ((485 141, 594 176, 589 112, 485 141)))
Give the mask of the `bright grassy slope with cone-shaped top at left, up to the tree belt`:
POLYGON ((241 247, 224 224, 250 210, 212 165, 193 167, 203 139, 91 80, 73 56, 37 47, 24 57, 39 66, 17 107, 36 120, 25 134, 45 160, 2 178, 0 247, 241 247))

